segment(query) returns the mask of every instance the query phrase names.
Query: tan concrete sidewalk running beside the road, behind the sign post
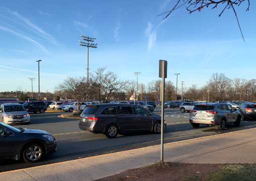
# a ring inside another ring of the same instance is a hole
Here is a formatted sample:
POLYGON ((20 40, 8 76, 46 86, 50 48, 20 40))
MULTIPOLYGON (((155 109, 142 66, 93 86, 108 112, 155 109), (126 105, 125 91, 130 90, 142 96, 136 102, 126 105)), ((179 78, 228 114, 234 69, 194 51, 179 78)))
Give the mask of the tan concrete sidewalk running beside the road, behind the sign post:
MULTIPOLYGON (((164 161, 255 163, 256 128, 164 144, 164 161)), ((117 138, 116 138, 117 139, 117 138)), ((113 139, 114 141, 115 139, 113 139)), ((109 153, 0 173, 0 180, 95 180, 149 165, 160 159, 160 146, 109 153)))

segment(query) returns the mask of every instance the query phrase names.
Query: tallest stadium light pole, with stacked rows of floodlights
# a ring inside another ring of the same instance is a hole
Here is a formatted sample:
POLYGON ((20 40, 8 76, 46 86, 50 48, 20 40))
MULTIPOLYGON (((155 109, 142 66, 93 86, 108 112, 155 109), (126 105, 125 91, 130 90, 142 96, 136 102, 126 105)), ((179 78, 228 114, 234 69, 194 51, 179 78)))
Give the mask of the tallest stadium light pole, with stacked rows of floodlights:
POLYGON ((89 99, 89 47, 92 48, 97 48, 98 44, 93 44, 89 42, 94 42, 94 40, 96 40, 96 38, 93 37, 87 37, 87 36, 83 36, 80 35, 80 37, 82 37, 82 40, 87 41, 87 42, 82 42, 82 41, 78 41, 80 46, 84 46, 87 47, 87 100, 89 99))

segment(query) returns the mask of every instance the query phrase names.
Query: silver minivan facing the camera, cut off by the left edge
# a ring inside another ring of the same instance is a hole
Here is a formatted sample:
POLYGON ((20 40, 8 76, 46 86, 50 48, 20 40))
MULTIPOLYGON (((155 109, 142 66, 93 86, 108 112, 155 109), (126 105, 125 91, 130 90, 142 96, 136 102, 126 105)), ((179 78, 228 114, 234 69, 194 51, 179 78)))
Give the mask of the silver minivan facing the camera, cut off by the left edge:
POLYGON ((21 104, 2 104, 0 106, 0 120, 6 124, 29 124, 30 115, 21 104))

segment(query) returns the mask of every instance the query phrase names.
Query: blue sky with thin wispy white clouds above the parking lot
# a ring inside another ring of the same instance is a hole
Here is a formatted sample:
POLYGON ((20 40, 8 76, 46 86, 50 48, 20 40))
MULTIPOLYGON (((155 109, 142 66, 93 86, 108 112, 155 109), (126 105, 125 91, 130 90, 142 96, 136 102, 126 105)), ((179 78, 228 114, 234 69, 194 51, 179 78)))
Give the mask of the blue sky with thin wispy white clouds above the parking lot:
POLYGON ((96 38, 89 48, 90 72, 107 67, 121 79, 147 84, 158 78, 159 60, 167 61, 167 78, 178 88, 206 85, 213 73, 255 78, 255 2, 234 12, 203 8, 192 15, 183 6, 166 19, 177 0, 2 1, 0 5, 0 92, 53 92, 67 76, 87 76, 87 47, 80 35, 96 38))

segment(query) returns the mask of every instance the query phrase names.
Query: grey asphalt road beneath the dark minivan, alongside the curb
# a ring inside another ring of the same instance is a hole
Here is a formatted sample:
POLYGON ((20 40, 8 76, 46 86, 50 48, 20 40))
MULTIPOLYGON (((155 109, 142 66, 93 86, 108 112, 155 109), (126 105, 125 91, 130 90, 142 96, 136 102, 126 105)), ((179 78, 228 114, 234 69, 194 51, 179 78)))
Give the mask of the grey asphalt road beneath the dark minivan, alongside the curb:
MULTIPOLYGON (((240 127, 228 125, 224 131, 207 125, 193 128, 189 123, 189 113, 181 113, 179 109, 169 108, 164 111, 164 118, 167 123, 167 129, 164 131, 165 142, 256 127, 255 121, 243 121, 240 127)), ((160 114, 159 109, 156 108, 154 113, 160 114)), ((31 124, 23 125, 28 128, 42 129, 53 134, 57 140, 57 151, 55 153, 46 156, 38 163, 32 164, 16 160, 2 161, 0 172, 160 144, 160 135, 150 132, 127 133, 109 139, 103 134, 82 131, 78 128, 78 119, 57 117, 60 114, 54 112, 31 113, 31 124)))

